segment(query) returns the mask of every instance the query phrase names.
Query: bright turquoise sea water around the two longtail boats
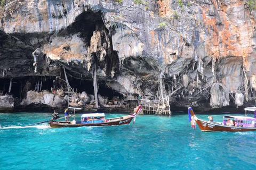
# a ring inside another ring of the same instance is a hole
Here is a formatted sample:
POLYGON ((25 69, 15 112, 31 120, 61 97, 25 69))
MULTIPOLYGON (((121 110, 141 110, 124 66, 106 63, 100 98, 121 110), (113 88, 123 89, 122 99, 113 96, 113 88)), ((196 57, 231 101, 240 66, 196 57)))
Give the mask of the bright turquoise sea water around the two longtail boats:
POLYGON ((122 126, 22 127, 50 117, 50 113, 0 114, 0 169, 256 168, 256 132, 193 130, 186 113, 138 115, 135 124, 122 126))

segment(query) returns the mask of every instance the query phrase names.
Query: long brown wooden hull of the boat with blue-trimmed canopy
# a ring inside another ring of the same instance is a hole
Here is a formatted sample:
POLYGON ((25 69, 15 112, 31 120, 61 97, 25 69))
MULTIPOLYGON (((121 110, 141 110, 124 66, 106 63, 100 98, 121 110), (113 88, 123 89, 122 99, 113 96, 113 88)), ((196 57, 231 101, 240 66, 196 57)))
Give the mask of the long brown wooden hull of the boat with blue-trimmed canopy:
POLYGON ((76 128, 82 126, 116 126, 116 125, 125 125, 129 124, 133 119, 133 116, 123 116, 123 117, 116 117, 116 118, 109 118, 106 119, 105 122, 100 123, 75 123, 72 122, 65 122, 65 121, 49 121, 49 125, 51 128, 76 128))

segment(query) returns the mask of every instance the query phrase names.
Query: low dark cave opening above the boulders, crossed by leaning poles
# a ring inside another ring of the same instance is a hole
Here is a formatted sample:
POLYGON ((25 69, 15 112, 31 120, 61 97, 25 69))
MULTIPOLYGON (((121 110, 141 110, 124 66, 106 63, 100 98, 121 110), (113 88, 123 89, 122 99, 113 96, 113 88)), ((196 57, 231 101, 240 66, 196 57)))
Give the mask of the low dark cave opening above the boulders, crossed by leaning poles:
MULTIPOLYGON (((68 78, 69 84, 72 88, 74 88, 75 91, 78 93, 82 93, 83 91, 86 91, 87 94, 94 95, 94 87, 93 87, 93 80, 87 79, 75 79, 75 78, 68 78)), ((61 87, 65 88, 66 83, 61 81, 57 82, 57 79, 55 77, 25 77, 25 78, 13 78, 12 79, 12 87, 10 95, 13 95, 14 97, 22 99, 25 94, 23 94, 23 91, 25 89, 25 86, 27 83, 30 83, 30 87, 28 87, 29 90, 36 90, 36 87, 39 85, 38 90, 36 91, 51 91, 57 90, 61 87), (42 82, 42 87, 41 87, 42 82)), ((0 79, 0 95, 6 95, 9 94, 9 87, 10 87, 10 79, 0 79)), ((98 94, 100 94, 102 97, 107 97, 109 100, 113 100, 114 97, 118 97, 119 99, 122 99, 124 96, 120 94, 119 92, 108 88, 105 86, 105 82, 99 83, 99 89, 98 94)))

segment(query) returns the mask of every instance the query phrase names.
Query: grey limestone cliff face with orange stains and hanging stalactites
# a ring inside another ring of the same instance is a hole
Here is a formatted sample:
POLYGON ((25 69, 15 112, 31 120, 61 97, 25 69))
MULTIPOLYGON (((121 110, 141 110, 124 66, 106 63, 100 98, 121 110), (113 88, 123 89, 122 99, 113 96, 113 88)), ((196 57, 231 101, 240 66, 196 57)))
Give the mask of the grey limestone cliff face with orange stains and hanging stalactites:
MULTIPOLYGON (((162 73, 173 108, 255 104, 254 11, 244 1, 6 0, 1 6, 0 73, 4 81, 21 81, 25 93, 38 81, 64 88, 65 67, 78 92, 92 91, 81 87, 92 86, 96 69, 100 88, 156 96, 162 73), (28 87, 31 77, 37 81, 28 87)), ((56 105, 52 95, 27 99, 56 105)))

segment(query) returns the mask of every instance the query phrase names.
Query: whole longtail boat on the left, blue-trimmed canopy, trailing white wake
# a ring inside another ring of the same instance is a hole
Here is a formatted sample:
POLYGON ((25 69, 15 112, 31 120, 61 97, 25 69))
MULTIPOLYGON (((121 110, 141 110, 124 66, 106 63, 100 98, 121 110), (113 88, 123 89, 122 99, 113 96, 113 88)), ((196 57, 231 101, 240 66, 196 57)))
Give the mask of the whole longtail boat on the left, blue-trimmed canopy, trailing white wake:
MULTIPOLYGON (((74 108, 75 109, 78 108, 74 108)), ((80 108, 81 109, 81 108, 80 108)), ((49 125, 52 128, 75 128, 81 126, 113 126, 113 125, 124 125, 129 124, 133 118, 133 123, 135 122, 136 115, 141 109, 139 105, 137 111, 132 115, 114 117, 114 118, 105 118, 104 113, 87 113, 81 115, 81 121, 76 121, 75 117, 73 121, 58 121, 59 116, 53 114, 52 120, 49 121, 49 125), (57 118, 56 118, 57 117, 57 118)))

